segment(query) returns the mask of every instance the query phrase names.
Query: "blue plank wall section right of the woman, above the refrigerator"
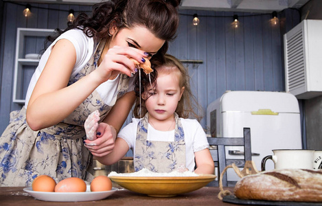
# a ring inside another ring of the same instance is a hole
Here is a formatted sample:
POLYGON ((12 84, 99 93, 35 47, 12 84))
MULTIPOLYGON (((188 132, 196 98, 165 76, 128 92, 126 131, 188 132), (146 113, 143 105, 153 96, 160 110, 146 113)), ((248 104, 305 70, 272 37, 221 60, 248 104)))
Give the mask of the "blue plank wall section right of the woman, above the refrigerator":
MULTIPOLYGON (((204 108, 227 90, 285 91, 283 34, 299 23, 297 10, 279 14, 279 25, 271 14, 181 11, 178 37, 170 54, 179 59, 203 60, 187 64, 194 94, 204 108), (200 24, 192 25, 198 13, 200 24), (231 23, 238 14, 240 27, 231 23)), ((205 126, 205 118, 201 124, 205 126)))

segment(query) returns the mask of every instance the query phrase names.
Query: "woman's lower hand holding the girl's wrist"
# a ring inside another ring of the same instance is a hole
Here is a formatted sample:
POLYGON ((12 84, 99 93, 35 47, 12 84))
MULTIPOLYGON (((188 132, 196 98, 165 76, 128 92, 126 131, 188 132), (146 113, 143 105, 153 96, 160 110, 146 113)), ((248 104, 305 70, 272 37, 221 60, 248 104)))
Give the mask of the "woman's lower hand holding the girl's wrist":
POLYGON ((104 122, 98 124, 96 137, 97 139, 91 141, 84 140, 84 146, 89 149, 92 155, 96 157, 103 157, 113 151, 116 139, 116 130, 104 122))

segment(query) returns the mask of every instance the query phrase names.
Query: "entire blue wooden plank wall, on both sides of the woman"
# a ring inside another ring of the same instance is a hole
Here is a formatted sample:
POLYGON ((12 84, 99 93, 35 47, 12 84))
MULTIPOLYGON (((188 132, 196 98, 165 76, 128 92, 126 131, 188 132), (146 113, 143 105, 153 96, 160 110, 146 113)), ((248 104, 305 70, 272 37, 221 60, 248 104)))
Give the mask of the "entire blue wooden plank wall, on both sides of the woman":
MULTIPOLYGON (((10 111, 21 108, 21 105, 12 102, 16 28, 65 28, 68 12, 62 10, 91 10, 91 6, 87 5, 32 6, 41 8, 32 8, 32 16, 26 19, 22 14, 23 5, 3 3, 0 133, 8 125, 10 111)), ((200 115, 205 116, 207 105, 227 90, 285 90, 282 36, 299 23, 300 14, 297 10, 279 13, 280 23, 277 26, 271 25, 271 14, 200 10, 180 10, 180 13, 178 36, 170 44, 169 53, 182 60, 203 60, 201 64, 185 64, 189 69, 194 95, 203 107, 200 115), (192 25, 194 13, 200 19, 198 26, 192 25), (231 25, 233 14, 239 15, 240 27, 237 29, 231 25)), ((42 44, 30 44, 28 47, 30 51, 38 53, 36 50, 42 49, 42 44)), ((25 82, 31 78, 32 69, 28 70, 25 82)), ((205 127, 205 118, 200 123, 205 127)))

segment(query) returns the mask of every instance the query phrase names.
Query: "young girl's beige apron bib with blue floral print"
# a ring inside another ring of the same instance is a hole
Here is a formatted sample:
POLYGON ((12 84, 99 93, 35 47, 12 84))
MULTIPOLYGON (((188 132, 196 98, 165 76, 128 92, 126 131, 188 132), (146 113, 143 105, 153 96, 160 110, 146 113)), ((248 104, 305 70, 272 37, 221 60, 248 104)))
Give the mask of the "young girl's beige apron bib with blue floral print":
POLYGON ((176 113, 174 119, 174 141, 148 141, 148 113, 137 124, 135 172, 143 168, 152 172, 171 172, 182 165, 185 167, 185 134, 176 113))

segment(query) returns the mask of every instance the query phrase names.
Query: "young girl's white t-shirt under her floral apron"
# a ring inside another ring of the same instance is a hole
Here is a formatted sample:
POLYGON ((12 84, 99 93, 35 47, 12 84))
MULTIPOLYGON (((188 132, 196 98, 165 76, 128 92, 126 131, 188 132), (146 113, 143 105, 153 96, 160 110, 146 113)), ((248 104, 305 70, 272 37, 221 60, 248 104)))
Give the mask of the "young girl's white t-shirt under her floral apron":
MULTIPOLYGON (((209 148, 209 143, 203 127, 196 119, 183 119, 180 118, 185 133, 185 162, 186 168, 194 171, 194 152, 209 148)), ((133 150, 135 155, 135 139, 137 136, 137 124, 139 119, 132 119, 132 122, 125 126, 117 135, 128 144, 128 148, 133 150)), ((174 141, 174 130, 159 131, 148 124, 148 140, 149 141, 174 141)))

